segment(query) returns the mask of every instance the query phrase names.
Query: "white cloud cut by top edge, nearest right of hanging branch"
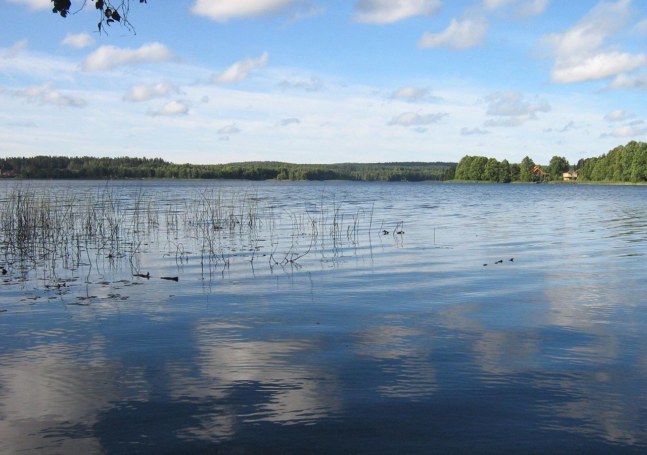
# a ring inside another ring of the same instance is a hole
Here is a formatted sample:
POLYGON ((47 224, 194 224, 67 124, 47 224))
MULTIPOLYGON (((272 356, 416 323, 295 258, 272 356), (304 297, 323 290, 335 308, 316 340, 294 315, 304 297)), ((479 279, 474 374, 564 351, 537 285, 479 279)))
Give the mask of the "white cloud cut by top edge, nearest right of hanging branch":
POLYGON ((296 3, 298 0, 196 0, 191 12, 226 22, 239 17, 276 13, 296 3))

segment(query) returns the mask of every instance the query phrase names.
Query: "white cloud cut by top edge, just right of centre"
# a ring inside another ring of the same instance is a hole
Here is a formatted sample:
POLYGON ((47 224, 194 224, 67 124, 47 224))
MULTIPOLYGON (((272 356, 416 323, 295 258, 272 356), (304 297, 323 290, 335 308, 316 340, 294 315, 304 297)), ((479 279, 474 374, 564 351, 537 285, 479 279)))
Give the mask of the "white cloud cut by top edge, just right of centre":
POLYGON ((390 24, 413 16, 431 16, 443 6, 440 0, 358 0, 355 21, 390 24))

